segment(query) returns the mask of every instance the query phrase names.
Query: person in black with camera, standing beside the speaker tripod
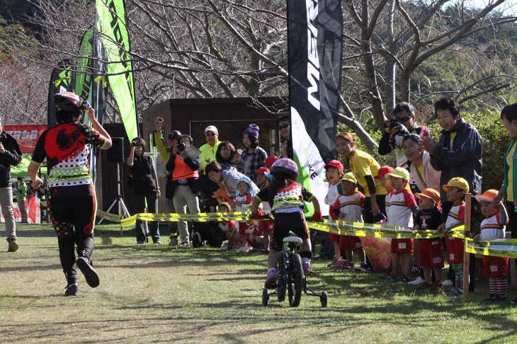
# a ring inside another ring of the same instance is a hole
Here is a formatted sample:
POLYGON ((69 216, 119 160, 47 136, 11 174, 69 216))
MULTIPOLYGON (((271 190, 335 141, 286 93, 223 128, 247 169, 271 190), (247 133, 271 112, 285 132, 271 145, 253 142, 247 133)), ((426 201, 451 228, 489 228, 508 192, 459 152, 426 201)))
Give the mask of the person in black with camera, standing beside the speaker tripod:
MULTIPOLYGON (((125 163, 131 168, 131 175, 133 177, 133 201, 135 202, 137 213, 145 212, 146 202, 147 210, 151 213, 156 213, 157 199, 161 193, 152 156, 144 154, 145 147, 146 144, 142 137, 132 139, 130 154, 127 156, 125 163)), ((149 231, 151 232, 152 242, 161 244, 158 222, 150 221, 149 231)), ((138 244, 145 243, 147 233, 141 219, 137 219, 135 234, 138 244)))

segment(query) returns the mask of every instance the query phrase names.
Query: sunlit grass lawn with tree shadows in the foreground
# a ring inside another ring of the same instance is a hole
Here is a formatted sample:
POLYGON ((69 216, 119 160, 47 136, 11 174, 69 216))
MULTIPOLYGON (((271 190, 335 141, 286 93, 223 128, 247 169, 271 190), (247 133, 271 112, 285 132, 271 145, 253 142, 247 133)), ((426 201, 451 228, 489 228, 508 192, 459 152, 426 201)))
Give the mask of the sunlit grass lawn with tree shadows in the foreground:
MULTIPOLYGON (((5 236, 2 229, 1 234, 5 236)), ((479 277, 470 299, 416 294, 377 274, 335 272, 314 262, 298 308, 261 304, 266 256, 215 248, 137 246, 132 231, 96 228, 101 285, 79 272, 79 297, 64 297, 57 239, 49 225, 18 225, 16 253, 0 241, 0 342, 19 343, 516 343, 517 307, 487 303, 479 277)), ((509 289, 509 299, 517 291, 509 289)))

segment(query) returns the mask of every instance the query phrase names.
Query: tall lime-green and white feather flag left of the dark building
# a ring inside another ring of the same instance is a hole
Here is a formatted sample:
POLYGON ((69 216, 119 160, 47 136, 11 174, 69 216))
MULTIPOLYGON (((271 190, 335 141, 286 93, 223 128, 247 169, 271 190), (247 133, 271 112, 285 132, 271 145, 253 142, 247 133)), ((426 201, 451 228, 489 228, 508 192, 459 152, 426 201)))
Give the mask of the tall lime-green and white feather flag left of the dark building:
POLYGON ((96 0, 97 29, 106 51, 108 81, 127 139, 138 137, 137 102, 124 0, 96 0))

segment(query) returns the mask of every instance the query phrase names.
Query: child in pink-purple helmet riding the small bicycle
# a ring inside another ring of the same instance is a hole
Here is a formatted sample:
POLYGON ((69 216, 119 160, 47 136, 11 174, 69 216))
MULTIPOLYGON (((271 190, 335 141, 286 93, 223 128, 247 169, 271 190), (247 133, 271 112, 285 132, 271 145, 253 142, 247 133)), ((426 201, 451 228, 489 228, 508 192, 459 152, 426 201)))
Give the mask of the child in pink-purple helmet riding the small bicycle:
POLYGON ((258 205, 262 200, 267 200, 271 205, 271 212, 275 217, 273 227, 273 241, 268 254, 268 275, 266 277, 266 288, 275 287, 278 280, 276 266, 278 265, 278 251, 283 245, 283 239, 289 235, 289 231, 294 232, 302 239, 300 246, 300 257, 305 275, 312 274, 311 267, 311 243, 305 222, 303 202, 312 202, 314 214, 312 220, 322 219, 322 212, 319 202, 312 193, 296 182, 298 167, 295 161, 288 158, 278 159, 271 166, 273 181, 267 188, 261 190, 251 202, 251 214, 256 219, 263 216, 258 210, 258 205))

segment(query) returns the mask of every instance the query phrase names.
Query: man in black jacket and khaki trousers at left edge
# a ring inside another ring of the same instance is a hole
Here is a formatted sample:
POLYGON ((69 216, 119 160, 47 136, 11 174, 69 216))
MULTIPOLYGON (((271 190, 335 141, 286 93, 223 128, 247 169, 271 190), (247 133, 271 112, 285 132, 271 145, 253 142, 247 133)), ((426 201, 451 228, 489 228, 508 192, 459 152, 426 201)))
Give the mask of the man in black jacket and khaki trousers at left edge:
POLYGON ((0 122, 0 207, 6 220, 8 252, 18 250, 16 224, 13 214, 13 189, 11 188, 11 166, 20 164, 21 151, 18 142, 4 132, 0 122))

